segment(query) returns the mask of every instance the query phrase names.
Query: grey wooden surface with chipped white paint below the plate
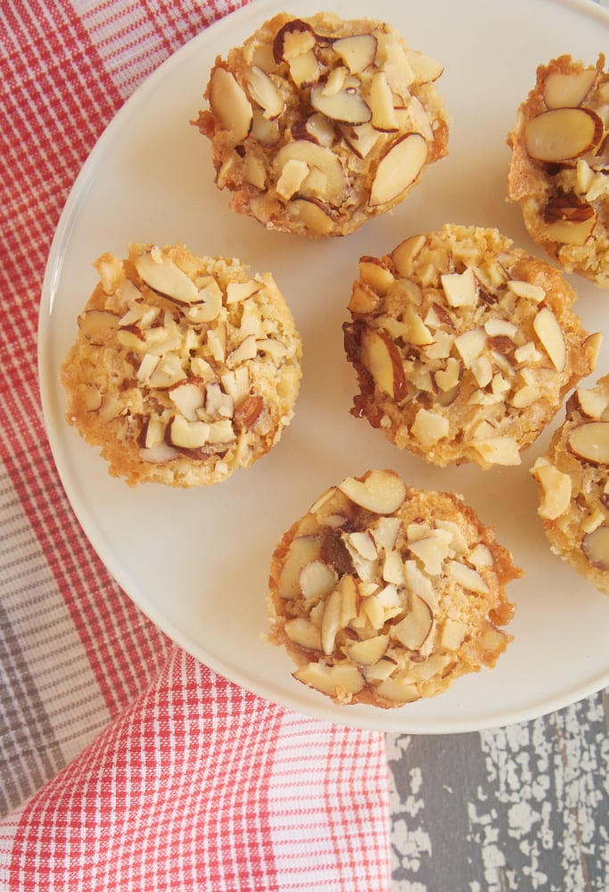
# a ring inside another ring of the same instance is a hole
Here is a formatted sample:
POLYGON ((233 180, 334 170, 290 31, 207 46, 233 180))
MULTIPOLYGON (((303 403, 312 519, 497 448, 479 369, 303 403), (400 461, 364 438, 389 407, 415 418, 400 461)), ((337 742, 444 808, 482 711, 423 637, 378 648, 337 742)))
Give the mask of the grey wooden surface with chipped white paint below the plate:
POLYGON ((609 689, 528 723, 387 735, 393 892, 607 892, 609 689))

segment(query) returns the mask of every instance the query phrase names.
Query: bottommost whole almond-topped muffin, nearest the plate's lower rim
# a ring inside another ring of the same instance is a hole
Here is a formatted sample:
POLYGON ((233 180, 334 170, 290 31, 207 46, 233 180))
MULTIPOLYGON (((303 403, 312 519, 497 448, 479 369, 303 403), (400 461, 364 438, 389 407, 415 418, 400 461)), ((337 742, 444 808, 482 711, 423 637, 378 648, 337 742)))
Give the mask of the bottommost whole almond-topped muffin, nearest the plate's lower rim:
POLYGON ((453 493, 369 471, 326 491, 284 534, 268 592, 270 640, 298 681, 337 703, 403 706, 492 667, 522 575, 453 493))

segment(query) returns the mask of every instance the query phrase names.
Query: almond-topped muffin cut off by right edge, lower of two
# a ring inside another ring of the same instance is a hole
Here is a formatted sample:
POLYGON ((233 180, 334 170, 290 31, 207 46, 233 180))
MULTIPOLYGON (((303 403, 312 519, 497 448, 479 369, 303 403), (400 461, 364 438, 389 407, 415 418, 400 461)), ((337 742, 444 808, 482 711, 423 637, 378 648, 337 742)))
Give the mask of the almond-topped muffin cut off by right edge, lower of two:
POLYGON ((609 375, 578 389, 531 475, 552 551, 609 594, 609 375), (582 454, 583 453, 583 454, 582 454))

